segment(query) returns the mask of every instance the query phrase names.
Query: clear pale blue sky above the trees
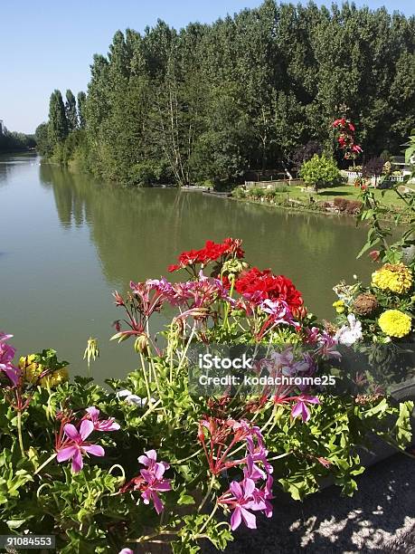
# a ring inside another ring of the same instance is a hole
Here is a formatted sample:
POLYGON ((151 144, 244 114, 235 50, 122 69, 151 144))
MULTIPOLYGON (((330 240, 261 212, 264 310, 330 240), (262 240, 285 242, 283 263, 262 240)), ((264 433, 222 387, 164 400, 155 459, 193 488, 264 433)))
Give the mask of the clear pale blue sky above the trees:
MULTIPOLYGON (((33 132, 47 119, 53 89, 86 90, 94 53, 107 53, 117 29, 142 31, 158 18, 176 28, 209 23, 260 0, 2 0, 0 119, 33 132)), ((296 1, 294 3, 297 3, 296 1)), ((316 4, 330 5, 331 1, 316 4)), ((357 0, 356 5, 414 14, 413 0, 357 0)))

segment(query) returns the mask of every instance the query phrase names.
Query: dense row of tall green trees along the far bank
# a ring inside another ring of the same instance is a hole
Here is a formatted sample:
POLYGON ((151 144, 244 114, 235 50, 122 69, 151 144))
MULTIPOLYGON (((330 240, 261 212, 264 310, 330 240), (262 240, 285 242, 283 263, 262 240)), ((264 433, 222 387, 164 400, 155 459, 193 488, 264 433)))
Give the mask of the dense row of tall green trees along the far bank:
POLYGON ((415 17, 384 8, 265 0, 180 31, 158 21, 115 33, 90 67, 78 102, 52 93, 36 137, 121 183, 237 182, 335 156, 344 106, 367 158, 400 154, 415 127, 415 17))

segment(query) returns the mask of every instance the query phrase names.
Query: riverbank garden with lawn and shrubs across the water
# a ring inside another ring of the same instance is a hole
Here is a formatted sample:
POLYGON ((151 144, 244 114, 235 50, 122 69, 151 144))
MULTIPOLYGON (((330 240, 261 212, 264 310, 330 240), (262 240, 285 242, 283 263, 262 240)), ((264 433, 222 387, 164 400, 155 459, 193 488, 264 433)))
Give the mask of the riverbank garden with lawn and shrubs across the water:
MULTIPOLYGON (((405 214, 407 205, 400 186, 408 184, 410 172, 404 174, 397 169, 388 152, 382 153, 381 157, 367 158, 363 165, 356 165, 355 160, 362 155, 362 148, 355 142, 354 123, 343 116, 335 119, 332 127, 343 161, 353 161, 353 165, 340 169, 332 155, 323 152, 316 141, 309 141, 297 148, 293 156, 292 165, 299 179, 289 178, 269 185, 263 181, 258 185, 250 183, 249 187, 247 184, 236 186, 232 197, 288 209, 357 216, 363 209, 361 193, 371 188, 376 201, 388 208, 383 211, 384 218, 393 219, 405 214)), ((408 144, 413 141, 412 133, 408 144)), ((288 176, 292 177, 291 174, 288 176)), ((413 193, 413 190, 408 188, 408 192, 413 193)))

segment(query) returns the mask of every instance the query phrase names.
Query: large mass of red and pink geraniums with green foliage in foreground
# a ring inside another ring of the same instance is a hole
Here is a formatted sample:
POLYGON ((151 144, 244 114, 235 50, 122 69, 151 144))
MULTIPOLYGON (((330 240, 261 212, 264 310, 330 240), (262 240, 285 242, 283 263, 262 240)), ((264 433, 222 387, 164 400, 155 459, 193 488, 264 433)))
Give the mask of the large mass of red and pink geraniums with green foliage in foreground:
POLYGON ((363 472, 355 446, 368 430, 400 449, 409 443, 411 404, 379 395, 358 400, 303 380, 192 394, 194 345, 265 348, 259 365, 277 377, 331 375, 340 355, 334 330, 307 312, 293 282, 251 267, 241 241, 209 241, 170 270, 187 279, 114 293, 125 317, 113 339, 134 339, 138 368, 108 387, 85 377, 43 383, 61 371, 56 354, 14 365, 11 336, 1 335, 4 532, 55 534, 63 554, 152 542, 194 553, 201 540, 224 549, 240 525, 270 517, 284 492, 301 500, 331 475, 352 494, 363 472), (155 332, 161 310, 170 321, 155 332))

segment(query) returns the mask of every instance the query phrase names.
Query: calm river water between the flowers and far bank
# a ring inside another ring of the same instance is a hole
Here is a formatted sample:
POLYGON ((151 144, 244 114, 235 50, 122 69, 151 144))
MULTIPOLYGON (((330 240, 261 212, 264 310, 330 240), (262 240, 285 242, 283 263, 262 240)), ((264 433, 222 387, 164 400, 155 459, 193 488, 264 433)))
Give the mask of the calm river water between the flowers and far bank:
POLYGON ((0 330, 14 333, 19 353, 57 349, 73 373, 85 373, 83 350, 97 337, 99 380, 135 368, 132 343, 108 343, 121 316, 111 291, 164 274, 177 253, 208 238, 243 239, 248 259, 291 278, 320 317, 333 315, 336 282, 371 271, 355 260, 365 232, 351 219, 200 193, 120 190, 34 156, 0 157, 0 206, 0 330))

